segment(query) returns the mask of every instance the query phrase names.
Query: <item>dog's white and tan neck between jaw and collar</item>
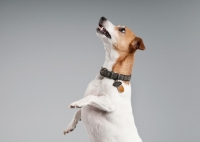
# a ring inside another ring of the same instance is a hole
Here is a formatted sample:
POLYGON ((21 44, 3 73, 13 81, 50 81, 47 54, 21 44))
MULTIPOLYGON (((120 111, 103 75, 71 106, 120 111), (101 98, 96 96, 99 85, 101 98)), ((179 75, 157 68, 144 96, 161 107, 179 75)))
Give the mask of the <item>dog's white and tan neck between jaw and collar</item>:
POLYGON ((123 75, 131 75, 134 64, 134 53, 123 53, 116 51, 109 44, 104 44, 106 57, 103 67, 109 71, 123 75))

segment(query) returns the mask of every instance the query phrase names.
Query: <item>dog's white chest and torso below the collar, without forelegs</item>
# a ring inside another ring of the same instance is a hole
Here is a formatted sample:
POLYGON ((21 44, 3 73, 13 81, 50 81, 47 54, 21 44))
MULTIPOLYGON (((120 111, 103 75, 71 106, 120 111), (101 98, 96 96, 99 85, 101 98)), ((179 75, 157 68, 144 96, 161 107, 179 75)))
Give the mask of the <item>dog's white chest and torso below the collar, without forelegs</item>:
POLYGON ((119 93, 113 84, 113 80, 105 79, 92 81, 88 85, 85 96, 87 95, 108 95, 115 110, 105 112, 93 106, 82 108, 82 120, 93 141, 123 141, 133 139, 134 133, 137 135, 131 107, 131 88, 124 85, 125 91, 119 93), (95 94, 93 94, 95 93, 95 94), (121 140, 123 139, 123 140, 121 140))

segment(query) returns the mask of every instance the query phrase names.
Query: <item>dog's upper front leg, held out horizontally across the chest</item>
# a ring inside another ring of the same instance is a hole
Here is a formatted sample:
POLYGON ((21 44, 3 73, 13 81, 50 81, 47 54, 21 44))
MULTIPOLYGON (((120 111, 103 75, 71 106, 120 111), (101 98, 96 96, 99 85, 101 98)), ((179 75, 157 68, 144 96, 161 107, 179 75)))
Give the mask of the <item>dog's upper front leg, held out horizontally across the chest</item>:
POLYGON ((106 112, 114 111, 110 97, 105 93, 101 96, 88 95, 79 101, 71 103, 69 108, 81 108, 90 105, 106 112))

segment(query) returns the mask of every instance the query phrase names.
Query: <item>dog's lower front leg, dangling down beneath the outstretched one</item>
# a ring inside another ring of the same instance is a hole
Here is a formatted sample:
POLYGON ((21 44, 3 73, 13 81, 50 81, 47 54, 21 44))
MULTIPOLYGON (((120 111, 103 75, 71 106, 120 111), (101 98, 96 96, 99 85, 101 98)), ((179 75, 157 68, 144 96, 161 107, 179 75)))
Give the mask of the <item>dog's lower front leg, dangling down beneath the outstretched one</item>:
POLYGON ((72 121, 70 122, 70 124, 64 130, 64 135, 66 133, 69 133, 69 132, 73 131, 76 128, 76 125, 78 124, 78 121, 80 121, 80 120, 81 120, 81 110, 78 110, 74 114, 74 116, 73 116, 72 121))

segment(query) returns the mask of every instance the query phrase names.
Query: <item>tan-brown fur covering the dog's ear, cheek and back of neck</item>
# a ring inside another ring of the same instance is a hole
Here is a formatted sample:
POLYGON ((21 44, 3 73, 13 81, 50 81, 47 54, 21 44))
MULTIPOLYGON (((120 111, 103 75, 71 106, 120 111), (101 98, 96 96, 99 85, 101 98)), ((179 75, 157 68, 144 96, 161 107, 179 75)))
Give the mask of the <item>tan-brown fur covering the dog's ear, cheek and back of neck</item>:
MULTIPOLYGON (((113 66, 112 71, 119 74, 131 75, 135 51, 137 49, 144 50, 145 46, 142 39, 136 37, 129 28, 125 28, 125 33, 121 33, 118 28, 116 27, 119 37, 117 43, 113 46, 119 53, 119 58, 113 66)), ((129 81, 124 81, 124 83, 129 84, 129 81)))

